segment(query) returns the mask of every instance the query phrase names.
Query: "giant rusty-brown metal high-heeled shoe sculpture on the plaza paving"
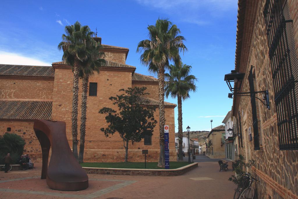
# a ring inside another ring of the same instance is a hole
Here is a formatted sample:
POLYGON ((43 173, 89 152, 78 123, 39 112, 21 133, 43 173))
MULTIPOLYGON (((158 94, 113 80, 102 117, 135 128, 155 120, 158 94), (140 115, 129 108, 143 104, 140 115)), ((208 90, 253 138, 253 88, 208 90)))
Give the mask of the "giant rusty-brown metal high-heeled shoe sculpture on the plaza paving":
POLYGON ((88 188, 88 176, 69 147, 63 121, 34 120, 33 129, 42 150, 41 179, 51 189, 79 191, 88 188), (48 166, 49 150, 52 146, 48 166))

